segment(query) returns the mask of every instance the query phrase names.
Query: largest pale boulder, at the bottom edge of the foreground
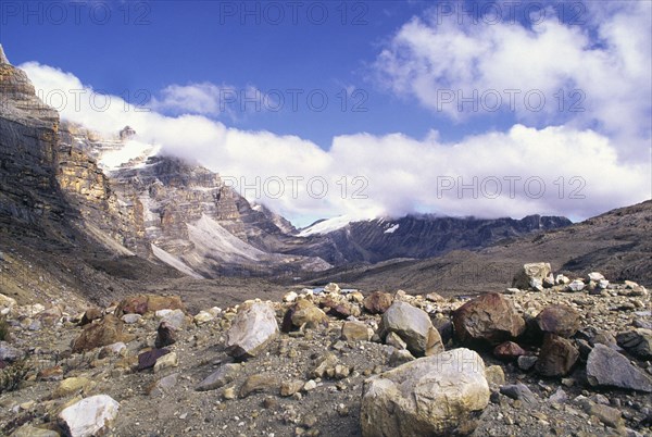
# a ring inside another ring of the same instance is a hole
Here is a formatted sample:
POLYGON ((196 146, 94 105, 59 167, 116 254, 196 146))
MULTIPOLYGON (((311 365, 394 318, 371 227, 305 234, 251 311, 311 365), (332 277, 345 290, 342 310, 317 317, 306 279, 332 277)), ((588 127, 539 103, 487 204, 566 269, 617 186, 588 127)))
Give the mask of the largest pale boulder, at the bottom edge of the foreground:
POLYGON ((489 403, 485 363, 468 349, 411 361, 373 376, 363 387, 365 437, 450 434, 489 403))

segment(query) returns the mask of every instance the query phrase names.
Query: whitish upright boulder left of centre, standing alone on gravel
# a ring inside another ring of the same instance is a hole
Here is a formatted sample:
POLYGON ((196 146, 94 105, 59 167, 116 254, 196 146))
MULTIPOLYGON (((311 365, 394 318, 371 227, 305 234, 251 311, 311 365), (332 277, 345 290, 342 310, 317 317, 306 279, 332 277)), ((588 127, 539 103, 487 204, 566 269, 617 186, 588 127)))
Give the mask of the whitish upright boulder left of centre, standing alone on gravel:
POLYGON ((246 303, 226 333, 226 348, 234 358, 255 357, 278 334, 274 308, 263 302, 246 303))

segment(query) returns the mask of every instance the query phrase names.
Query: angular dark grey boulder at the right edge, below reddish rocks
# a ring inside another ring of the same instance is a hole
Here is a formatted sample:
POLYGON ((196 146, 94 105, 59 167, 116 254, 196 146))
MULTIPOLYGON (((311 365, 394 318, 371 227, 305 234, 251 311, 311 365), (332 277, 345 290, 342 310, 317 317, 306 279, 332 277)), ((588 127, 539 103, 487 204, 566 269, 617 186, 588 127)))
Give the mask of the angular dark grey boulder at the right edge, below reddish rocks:
POLYGON ((615 350, 595 345, 587 360, 587 379, 592 386, 619 387, 652 392, 652 378, 615 350))

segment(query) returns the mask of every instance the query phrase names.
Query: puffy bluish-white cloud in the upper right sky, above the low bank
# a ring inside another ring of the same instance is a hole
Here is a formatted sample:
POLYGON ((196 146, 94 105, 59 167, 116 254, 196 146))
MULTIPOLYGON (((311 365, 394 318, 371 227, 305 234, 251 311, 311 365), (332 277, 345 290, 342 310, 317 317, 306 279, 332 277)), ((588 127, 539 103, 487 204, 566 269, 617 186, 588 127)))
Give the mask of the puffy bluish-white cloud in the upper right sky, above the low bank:
POLYGON ((548 18, 531 28, 507 20, 474 24, 434 9, 398 30, 375 68, 397 95, 455 121, 491 112, 497 96, 510 112, 514 96, 514 116, 522 123, 593 127, 618 142, 622 159, 647 159, 652 3, 585 4, 586 16, 579 17, 585 26, 554 20, 549 9, 548 18), (477 111, 462 100, 474 92, 477 111))

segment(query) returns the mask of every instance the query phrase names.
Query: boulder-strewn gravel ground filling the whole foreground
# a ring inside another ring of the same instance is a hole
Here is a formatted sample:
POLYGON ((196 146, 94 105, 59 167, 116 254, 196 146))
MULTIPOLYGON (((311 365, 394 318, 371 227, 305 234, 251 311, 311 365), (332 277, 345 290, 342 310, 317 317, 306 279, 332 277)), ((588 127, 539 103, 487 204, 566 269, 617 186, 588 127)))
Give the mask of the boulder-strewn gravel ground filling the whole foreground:
POLYGON ((82 312, 0 297, 0 429, 652 435, 648 291, 569 279, 473 300, 331 284, 190 314, 177 297, 82 312))

